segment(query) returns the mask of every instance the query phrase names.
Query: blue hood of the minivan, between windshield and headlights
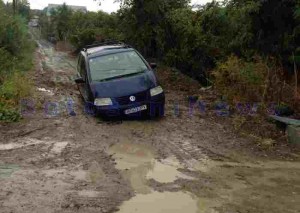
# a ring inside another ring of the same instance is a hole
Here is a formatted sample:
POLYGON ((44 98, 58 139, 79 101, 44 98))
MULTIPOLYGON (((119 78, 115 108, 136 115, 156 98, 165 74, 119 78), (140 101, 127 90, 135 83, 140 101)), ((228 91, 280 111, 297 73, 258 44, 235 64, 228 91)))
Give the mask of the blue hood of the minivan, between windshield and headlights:
POLYGON ((94 98, 115 98, 142 92, 157 86, 152 71, 105 82, 91 83, 94 98))

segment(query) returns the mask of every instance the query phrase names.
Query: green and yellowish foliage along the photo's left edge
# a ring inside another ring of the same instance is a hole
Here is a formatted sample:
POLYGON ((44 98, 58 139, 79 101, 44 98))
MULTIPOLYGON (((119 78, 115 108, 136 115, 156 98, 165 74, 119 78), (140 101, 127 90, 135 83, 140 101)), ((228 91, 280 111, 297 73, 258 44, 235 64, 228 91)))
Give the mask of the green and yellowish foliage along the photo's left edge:
POLYGON ((18 121, 19 100, 32 92, 33 84, 25 74, 32 68, 35 47, 28 35, 29 14, 25 11, 28 6, 27 1, 19 1, 14 15, 11 5, 0 1, 0 120, 3 121, 18 121))

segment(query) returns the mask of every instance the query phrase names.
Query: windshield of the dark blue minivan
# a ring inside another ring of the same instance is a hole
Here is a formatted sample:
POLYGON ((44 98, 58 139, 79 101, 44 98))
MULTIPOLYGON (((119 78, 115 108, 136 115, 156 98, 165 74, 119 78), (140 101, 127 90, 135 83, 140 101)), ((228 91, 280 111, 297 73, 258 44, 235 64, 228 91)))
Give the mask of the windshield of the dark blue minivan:
POLYGON ((89 60, 92 81, 103 81, 134 75, 147 70, 147 66, 135 51, 119 52, 89 60))

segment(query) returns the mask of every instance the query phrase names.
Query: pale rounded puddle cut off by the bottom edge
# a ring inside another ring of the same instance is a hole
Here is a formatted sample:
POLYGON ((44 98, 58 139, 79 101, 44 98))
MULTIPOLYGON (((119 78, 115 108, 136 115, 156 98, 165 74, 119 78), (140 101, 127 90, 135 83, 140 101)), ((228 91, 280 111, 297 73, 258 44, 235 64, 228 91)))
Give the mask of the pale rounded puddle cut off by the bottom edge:
POLYGON ((153 192, 137 195, 121 205, 119 213, 197 213, 198 201, 189 193, 153 192))

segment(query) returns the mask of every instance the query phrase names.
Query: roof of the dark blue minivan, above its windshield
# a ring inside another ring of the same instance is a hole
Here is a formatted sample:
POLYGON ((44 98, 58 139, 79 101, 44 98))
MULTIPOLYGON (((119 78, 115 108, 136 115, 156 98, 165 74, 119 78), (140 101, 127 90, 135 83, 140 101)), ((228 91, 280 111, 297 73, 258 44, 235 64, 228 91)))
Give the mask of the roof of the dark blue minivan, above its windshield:
POLYGON ((111 53, 118 53, 133 50, 128 45, 103 45, 103 46, 96 46, 96 47, 87 47, 83 49, 83 52, 87 55, 88 58, 93 58, 96 56, 107 55, 111 53))

